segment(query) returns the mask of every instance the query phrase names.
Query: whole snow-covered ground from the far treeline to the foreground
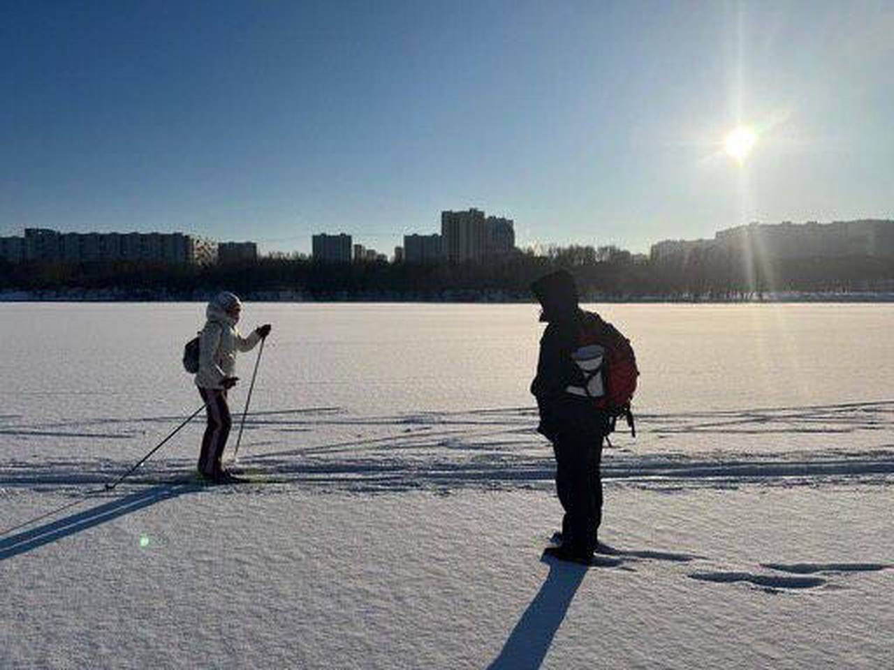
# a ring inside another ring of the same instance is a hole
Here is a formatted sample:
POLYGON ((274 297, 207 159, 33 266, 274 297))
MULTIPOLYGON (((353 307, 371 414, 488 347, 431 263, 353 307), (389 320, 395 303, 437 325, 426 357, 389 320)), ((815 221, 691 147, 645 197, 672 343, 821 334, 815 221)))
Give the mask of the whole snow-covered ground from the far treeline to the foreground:
POLYGON ((585 570, 533 306, 246 306, 259 481, 188 482, 196 422, 105 491, 202 307, 0 305, 0 667, 894 666, 894 306, 602 311, 643 377, 585 570))

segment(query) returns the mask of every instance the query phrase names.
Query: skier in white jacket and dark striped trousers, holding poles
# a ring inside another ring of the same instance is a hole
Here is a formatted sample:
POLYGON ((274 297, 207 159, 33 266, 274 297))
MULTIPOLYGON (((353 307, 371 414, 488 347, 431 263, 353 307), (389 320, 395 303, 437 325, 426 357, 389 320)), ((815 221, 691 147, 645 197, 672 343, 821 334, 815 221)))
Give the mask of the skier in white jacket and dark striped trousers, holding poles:
POLYGON ((236 330, 242 303, 229 291, 218 293, 208 303, 205 328, 199 335, 196 386, 206 403, 207 426, 198 456, 198 472, 213 482, 231 482, 236 478, 223 469, 221 458, 230 436, 232 418, 226 393, 235 386, 236 352, 249 351, 270 334, 271 326, 258 326, 247 338, 236 330))

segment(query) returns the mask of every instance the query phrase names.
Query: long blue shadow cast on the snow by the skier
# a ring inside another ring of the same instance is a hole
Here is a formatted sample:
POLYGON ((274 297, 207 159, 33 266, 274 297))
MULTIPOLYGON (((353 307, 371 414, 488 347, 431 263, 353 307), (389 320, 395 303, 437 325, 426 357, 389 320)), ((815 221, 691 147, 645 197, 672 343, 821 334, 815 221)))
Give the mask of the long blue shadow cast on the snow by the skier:
POLYGON ((115 498, 97 507, 66 516, 51 523, 44 523, 28 531, 18 532, 9 537, 0 538, 0 561, 24 554, 31 549, 38 549, 45 544, 61 540, 76 532, 86 531, 100 523, 112 521, 119 516, 131 514, 143 507, 155 505, 162 500, 176 498, 183 493, 199 490, 190 484, 162 484, 149 489, 140 490, 123 498, 115 498))

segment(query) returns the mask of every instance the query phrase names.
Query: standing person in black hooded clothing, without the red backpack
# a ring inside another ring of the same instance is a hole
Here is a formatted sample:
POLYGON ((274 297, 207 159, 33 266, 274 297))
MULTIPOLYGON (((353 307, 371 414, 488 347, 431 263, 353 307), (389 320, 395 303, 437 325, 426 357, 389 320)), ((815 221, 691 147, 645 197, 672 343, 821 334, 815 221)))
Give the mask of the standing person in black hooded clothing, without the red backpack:
POLYGON ((602 520, 599 465, 607 427, 590 398, 569 392, 569 387, 586 383, 571 354, 579 347, 587 313, 578 307, 578 289, 569 272, 552 272, 531 290, 543 307, 540 320, 547 323, 531 393, 540 410, 537 430, 552 442, 556 490, 565 510, 561 545, 544 554, 588 565, 602 520))

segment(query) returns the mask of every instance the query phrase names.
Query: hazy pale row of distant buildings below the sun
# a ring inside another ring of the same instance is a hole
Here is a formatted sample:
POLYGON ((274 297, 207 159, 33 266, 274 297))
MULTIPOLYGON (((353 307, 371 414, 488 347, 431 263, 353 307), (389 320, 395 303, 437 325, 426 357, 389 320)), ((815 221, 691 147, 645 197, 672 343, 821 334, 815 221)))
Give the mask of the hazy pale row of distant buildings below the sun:
POLYGON ((713 239, 666 239, 654 244, 653 261, 723 253, 762 260, 894 256, 894 221, 749 223, 721 230, 713 239))

